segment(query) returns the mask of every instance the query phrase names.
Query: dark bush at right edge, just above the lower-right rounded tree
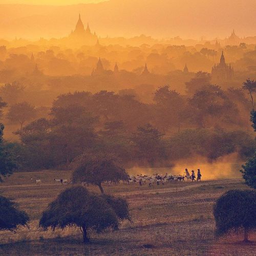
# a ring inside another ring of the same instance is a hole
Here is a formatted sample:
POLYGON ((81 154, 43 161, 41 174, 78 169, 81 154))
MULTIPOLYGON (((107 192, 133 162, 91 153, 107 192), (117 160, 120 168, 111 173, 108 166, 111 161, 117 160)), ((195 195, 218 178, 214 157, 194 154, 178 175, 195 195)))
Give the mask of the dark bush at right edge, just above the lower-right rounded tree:
POLYGON ((256 153, 245 165, 242 165, 242 168, 240 172, 243 174, 245 183, 252 188, 256 188, 256 153))

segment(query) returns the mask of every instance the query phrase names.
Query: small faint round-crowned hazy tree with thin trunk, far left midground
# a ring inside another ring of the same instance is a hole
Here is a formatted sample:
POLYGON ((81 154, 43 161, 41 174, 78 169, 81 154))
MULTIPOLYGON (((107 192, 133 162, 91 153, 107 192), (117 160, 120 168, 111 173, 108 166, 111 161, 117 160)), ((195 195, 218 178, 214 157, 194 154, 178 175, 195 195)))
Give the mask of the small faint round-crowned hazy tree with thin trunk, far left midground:
POLYGON ((7 113, 7 118, 20 124, 20 132, 22 132, 23 125, 26 121, 31 121, 36 117, 36 109, 28 102, 14 104, 10 107, 7 113))

